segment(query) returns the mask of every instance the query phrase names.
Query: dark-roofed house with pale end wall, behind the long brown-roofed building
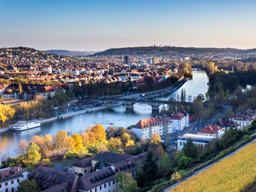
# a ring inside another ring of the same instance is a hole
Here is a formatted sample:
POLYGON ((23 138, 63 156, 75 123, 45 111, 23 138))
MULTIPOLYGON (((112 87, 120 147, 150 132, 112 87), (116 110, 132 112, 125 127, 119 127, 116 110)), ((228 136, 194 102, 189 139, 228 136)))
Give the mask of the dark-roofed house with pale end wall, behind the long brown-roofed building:
POLYGON ((112 153, 109 151, 102 151, 96 156, 92 156, 87 159, 83 159, 78 161, 75 164, 72 164, 71 169, 74 169, 74 173, 81 173, 83 175, 87 175, 92 173, 92 170, 95 169, 95 164, 97 161, 102 161, 103 167, 108 167, 119 161, 123 161, 124 159, 129 159, 130 155, 123 153, 112 153))

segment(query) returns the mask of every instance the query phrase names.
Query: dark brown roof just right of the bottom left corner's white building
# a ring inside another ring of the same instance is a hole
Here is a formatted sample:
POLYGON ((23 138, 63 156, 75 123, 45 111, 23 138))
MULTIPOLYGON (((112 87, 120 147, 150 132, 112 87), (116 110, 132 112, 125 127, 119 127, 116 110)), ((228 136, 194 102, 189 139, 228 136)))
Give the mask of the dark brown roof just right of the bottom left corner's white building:
POLYGON ((28 176, 29 179, 36 181, 40 188, 50 190, 57 185, 67 183, 68 191, 77 190, 78 176, 74 173, 67 173, 62 170, 56 170, 50 167, 36 167, 28 176))

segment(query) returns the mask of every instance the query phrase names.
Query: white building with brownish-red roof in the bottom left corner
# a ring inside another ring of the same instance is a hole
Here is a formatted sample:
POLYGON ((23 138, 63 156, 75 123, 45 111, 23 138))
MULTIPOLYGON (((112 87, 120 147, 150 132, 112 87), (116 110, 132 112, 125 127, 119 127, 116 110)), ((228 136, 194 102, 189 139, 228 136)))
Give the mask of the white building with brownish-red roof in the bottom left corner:
POLYGON ((19 182, 28 179, 28 172, 22 167, 7 167, 0 170, 0 191, 14 192, 19 182))

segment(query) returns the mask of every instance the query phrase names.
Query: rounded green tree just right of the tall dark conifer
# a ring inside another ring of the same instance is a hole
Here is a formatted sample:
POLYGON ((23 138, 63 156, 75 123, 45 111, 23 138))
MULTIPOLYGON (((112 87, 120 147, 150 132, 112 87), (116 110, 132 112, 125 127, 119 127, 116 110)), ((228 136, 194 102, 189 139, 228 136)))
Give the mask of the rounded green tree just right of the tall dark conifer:
POLYGON ((158 174, 160 177, 168 176, 173 172, 173 164, 167 153, 160 159, 158 163, 158 174))

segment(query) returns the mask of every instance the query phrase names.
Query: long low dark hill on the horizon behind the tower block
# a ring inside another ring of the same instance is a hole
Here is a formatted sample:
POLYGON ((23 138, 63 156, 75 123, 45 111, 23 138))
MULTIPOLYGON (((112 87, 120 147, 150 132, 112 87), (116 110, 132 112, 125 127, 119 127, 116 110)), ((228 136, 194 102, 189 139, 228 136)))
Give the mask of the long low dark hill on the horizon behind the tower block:
POLYGON ((239 53, 241 50, 237 48, 184 48, 170 46, 150 46, 150 47, 131 47, 131 48, 110 48, 106 51, 93 54, 92 56, 109 56, 109 55, 189 55, 189 54, 232 54, 239 53))

